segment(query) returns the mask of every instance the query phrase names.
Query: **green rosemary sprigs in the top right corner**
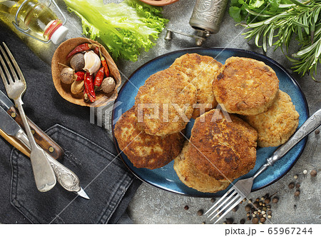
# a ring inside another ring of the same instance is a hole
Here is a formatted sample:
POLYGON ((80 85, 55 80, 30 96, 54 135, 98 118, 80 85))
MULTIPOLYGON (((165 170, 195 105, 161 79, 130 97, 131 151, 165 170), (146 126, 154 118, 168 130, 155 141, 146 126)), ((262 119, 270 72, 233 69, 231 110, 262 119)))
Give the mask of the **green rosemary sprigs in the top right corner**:
POLYGON ((267 45, 275 49, 280 47, 283 54, 292 61, 292 69, 304 76, 310 74, 317 81, 317 66, 321 54, 321 0, 290 0, 282 12, 253 11, 245 6, 249 16, 263 20, 246 24, 250 29, 244 34, 245 39, 255 39, 255 45, 267 51, 267 45), (295 39, 301 46, 296 54, 288 56, 290 41, 295 39), (286 51, 284 51, 284 48, 286 51))

